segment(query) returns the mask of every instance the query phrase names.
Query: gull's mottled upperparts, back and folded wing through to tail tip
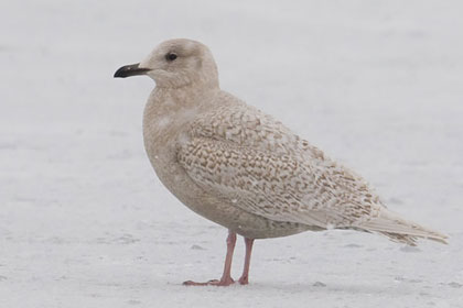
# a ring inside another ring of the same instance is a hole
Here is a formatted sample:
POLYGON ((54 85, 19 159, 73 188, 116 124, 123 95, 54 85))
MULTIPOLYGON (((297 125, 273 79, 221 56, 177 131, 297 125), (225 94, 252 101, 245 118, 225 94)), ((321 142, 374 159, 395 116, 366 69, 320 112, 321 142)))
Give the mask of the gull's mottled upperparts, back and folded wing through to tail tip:
POLYGON ((177 160, 209 194, 271 220, 367 230, 407 243, 446 238, 398 218, 360 176, 239 101, 198 118, 179 142, 177 160))

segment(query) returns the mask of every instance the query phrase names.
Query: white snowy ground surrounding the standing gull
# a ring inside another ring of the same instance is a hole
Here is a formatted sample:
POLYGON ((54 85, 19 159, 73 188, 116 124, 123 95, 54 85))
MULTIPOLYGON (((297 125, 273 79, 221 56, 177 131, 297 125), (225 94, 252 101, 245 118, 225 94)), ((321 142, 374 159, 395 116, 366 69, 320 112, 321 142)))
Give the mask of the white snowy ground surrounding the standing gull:
POLYGON ((462 2, 219 2, 1 4, 0 307, 463 307, 462 2), (302 233, 258 241, 249 286, 183 287, 219 276, 226 230, 149 165, 152 81, 112 79, 171 37, 450 245, 302 233))

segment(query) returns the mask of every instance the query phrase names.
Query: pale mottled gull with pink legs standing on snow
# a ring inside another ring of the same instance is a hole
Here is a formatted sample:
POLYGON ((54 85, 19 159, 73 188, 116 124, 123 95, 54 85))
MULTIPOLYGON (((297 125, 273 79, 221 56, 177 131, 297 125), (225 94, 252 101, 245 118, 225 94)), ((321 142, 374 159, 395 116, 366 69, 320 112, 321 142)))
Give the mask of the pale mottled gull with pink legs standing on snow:
POLYGON ((222 277, 187 286, 229 286, 237 235, 245 240, 241 285, 256 239, 356 230, 416 245, 448 238, 389 210, 359 175, 273 117, 219 87, 209 48, 174 38, 115 78, 155 82, 143 111, 143 142, 161 183, 186 207, 228 229, 222 277))

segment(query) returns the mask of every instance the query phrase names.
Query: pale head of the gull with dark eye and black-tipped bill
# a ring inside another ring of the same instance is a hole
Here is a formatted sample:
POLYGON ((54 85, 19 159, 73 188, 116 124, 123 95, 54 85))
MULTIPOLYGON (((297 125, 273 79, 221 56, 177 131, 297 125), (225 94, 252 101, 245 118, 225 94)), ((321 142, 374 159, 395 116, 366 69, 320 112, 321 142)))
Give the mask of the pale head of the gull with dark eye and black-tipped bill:
POLYGON ((163 88, 218 87, 217 66, 211 51, 204 44, 186 38, 161 43, 142 62, 119 68, 115 77, 136 75, 148 75, 163 88))

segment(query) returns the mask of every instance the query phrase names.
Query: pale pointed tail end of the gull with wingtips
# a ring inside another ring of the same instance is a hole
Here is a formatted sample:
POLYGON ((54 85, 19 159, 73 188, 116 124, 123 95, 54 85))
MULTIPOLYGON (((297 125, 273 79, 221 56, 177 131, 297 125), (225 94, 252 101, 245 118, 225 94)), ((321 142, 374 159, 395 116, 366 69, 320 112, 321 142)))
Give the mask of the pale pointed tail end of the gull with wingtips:
POLYGON ((446 235, 424 228, 418 223, 405 220, 388 209, 381 209, 378 217, 363 222, 359 226, 369 232, 378 232, 391 241, 417 245, 417 239, 428 239, 446 244, 446 235))

